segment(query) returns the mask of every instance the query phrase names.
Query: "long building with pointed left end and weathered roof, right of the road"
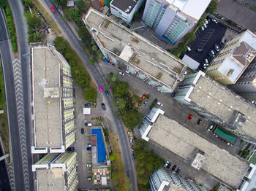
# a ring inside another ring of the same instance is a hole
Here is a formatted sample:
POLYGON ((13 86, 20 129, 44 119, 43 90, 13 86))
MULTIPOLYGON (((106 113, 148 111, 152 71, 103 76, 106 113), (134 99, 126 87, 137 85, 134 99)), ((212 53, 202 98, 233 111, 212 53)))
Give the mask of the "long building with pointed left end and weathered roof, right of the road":
POLYGON ((110 17, 89 9, 83 22, 107 63, 170 93, 184 79, 187 64, 110 17))

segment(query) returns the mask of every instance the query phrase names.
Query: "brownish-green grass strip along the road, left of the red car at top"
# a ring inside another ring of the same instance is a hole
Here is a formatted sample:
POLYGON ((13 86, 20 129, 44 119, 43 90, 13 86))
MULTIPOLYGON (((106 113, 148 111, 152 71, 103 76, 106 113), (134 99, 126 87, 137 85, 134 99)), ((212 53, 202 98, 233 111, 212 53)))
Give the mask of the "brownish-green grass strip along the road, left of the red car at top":
POLYGON ((34 4, 35 7, 41 12, 43 17, 47 20, 47 22, 50 24, 50 26, 53 28, 53 31, 56 33, 57 36, 61 34, 61 31, 59 30, 59 27, 57 24, 54 22, 53 18, 50 17, 48 12, 45 10, 45 8, 42 6, 42 4, 38 0, 32 0, 32 3, 34 4))

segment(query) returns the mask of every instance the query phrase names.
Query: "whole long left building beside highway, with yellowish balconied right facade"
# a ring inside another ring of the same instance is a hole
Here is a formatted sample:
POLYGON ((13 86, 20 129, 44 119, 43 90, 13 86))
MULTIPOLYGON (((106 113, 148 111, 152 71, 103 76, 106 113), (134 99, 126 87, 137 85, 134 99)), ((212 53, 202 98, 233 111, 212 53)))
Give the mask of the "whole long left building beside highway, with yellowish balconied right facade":
POLYGON ((71 68, 53 47, 31 44, 34 145, 31 152, 65 152, 75 142, 71 68))

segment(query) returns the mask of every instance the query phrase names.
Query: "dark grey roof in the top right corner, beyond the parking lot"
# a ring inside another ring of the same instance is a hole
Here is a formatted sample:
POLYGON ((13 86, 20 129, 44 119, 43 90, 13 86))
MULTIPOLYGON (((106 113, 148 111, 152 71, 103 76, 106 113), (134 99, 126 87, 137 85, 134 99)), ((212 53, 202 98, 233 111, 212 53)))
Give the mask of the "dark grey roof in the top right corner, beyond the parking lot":
POLYGON ((232 20, 252 32, 256 32, 256 12, 234 0, 219 0, 217 14, 232 20))

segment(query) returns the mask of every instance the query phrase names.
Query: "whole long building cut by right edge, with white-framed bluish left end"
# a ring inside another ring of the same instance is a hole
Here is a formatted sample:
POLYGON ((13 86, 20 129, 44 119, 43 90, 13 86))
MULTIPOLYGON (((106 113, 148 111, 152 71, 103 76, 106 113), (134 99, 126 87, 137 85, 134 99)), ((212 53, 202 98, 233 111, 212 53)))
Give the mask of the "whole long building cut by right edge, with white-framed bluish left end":
POLYGON ((241 139, 256 144, 255 106, 205 77, 203 71, 188 75, 179 85, 175 99, 241 139))

